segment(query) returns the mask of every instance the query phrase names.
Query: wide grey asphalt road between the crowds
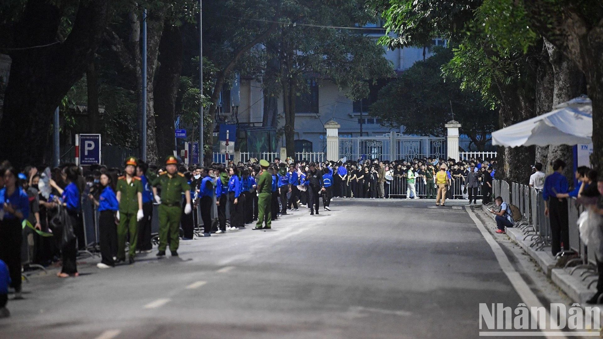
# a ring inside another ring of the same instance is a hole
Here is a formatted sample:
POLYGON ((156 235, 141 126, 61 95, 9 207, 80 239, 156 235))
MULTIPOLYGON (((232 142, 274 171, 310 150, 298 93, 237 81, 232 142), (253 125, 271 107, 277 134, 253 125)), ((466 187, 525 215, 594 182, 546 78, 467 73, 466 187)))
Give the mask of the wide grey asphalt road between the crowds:
POLYGON ((33 277, 0 337, 475 338, 479 303, 520 298, 467 212, 432 204, 338 199, 180 258, 33 277))

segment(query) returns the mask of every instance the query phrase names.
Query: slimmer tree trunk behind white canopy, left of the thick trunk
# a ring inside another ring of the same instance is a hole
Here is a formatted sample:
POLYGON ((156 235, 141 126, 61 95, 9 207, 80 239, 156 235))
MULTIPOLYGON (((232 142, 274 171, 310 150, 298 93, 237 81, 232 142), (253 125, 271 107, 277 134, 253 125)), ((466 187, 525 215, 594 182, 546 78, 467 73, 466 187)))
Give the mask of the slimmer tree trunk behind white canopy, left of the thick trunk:
MULTIPOLYGON (((543 44, 542 51, 538 57, 538 68, 536 71, 536 92, 534 110, 536 115, 543 115, 551 112, 553 103, 553 92, 555 87, 555 78, 553 67, 549 61, 549 51, 543 44)), ((548 163, 549 147, 536 146, 535 162, 540 162, 544 166, 548 163)), ((546 168, 546 167, 543 167, 546 168)))

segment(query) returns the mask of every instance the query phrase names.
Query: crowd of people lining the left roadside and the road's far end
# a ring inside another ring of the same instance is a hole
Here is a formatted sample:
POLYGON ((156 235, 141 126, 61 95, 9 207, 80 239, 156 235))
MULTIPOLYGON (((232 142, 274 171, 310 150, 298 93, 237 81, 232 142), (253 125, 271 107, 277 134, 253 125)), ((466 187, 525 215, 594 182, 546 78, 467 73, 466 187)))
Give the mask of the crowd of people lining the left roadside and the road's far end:
POLYGON ((162 166, 130 157, 123 168, 69 163, 17 170, 4 162, 0 165, 0 316, 8 316, 9 281, 14 299, 22 299, 21 274, 27 263, 61 267, 58 277, 78 276, 77 256, 87 246, 86 204, 98 212, 101 262, 96 266, 104 269, 133 264, 137 254, 153 250, 153 211, 159 220, 156 255, 165 256, 169 246, 171 255, 178 256, 180 239, 192 239, 195 225, 203 224, 204 237, 253 223, 253 230, 270 229, 272 221, 300 208, 317 215, 322 203, 323 210, 330 211, 333 197, 402 197, 403 192, 393 194, 397 182, 406 184, 407 198, 418 198, 414 183, 423 180, 428 190, 421 198, 438 195, 444 206, 447 188, 459 180, 476 201, 474 189, 491 182, 494 165, 480 159, 308 162, 276 158, 272 163, 251 159, 185 166, 169 156, 162 166))

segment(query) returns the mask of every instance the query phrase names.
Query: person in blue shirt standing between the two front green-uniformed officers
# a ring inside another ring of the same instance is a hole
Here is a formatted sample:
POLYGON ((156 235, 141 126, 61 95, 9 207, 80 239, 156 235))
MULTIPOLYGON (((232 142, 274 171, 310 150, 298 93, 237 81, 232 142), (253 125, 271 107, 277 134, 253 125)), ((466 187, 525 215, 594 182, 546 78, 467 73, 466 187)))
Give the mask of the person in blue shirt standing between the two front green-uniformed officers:
POLYGON ((147 174, 154 177, 154 173, 148 172, 147 163, 138 161, 136 166, 136 176, 142 183, 142 219, 138 222, 138 242, 136 249, 140 252, 150 253, 153 250, 151 243, 151 220, 153 220, 153 186, 147 178, 147 174))

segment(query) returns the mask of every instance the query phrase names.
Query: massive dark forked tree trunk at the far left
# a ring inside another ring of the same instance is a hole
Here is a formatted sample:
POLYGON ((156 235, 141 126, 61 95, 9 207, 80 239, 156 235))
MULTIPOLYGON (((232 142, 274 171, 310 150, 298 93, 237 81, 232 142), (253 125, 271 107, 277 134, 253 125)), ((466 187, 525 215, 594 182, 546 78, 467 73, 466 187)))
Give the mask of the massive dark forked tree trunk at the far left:
MULTIPOLYGON (((45 45, 57 39, 59 8, 30 0, 14 31, 14 47, 45 45)), ((44 161, 44 147, 55 108, 92 62, 107 23, 107 1, 82 2, 64 42, 16 50, 0 122, 0 159, 21 167, 44 161)))

